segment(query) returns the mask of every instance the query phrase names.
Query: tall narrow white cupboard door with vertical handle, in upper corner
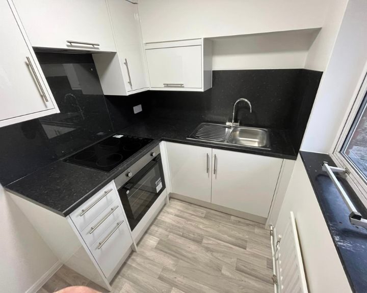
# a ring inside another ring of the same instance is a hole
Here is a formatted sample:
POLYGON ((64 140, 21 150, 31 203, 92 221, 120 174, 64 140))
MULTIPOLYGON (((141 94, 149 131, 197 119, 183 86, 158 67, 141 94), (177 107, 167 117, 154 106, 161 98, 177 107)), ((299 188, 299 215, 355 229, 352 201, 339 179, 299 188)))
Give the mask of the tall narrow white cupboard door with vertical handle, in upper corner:
POLYGON ((121 0, 108 0, 108 6, 126 91, 147 88, 138 7, 121 0))

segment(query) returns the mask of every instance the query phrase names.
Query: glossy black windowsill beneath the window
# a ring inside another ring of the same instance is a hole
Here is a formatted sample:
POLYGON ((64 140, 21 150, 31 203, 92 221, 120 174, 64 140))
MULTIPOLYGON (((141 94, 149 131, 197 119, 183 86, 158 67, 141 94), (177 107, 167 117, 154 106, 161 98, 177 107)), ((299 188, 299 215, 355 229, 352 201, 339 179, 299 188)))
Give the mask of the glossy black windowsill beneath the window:
MULTIPOLYGON (((300 151, 300 155, 352 291, 366 292, 367 230, 349 222, 350 212, 343 198, 326 172, 322 171, 324 161, 330 166, 336 165, 327 154, 300 151)), ((346 180, 338 179, 357 210, 367 218, 367 211, 350 185, 346 180)))

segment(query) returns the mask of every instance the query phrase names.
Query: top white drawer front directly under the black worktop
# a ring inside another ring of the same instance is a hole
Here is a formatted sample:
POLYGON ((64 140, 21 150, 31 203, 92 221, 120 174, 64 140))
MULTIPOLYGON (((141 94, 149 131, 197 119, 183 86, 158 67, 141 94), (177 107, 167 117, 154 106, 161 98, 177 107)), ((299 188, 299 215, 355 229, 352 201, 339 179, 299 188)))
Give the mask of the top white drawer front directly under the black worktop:
POLYGON ((111 182, 71 213, 70 218, 74 222, 75 227, 79 231, 83 231, 116 198, 118 198, 118 195, 114 189, 113 182, 111 182))

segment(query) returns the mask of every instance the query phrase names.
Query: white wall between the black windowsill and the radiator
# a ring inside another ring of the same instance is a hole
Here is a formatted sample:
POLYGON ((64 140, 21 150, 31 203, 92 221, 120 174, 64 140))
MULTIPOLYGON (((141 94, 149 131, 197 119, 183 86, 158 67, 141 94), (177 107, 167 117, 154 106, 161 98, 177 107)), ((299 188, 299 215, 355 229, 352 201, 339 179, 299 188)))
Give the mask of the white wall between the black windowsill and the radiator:
POLYGON ((300 156, 275 224, 276 235, 284 233, 291 211, 297 222, 309 292, 351 292, 300 156))

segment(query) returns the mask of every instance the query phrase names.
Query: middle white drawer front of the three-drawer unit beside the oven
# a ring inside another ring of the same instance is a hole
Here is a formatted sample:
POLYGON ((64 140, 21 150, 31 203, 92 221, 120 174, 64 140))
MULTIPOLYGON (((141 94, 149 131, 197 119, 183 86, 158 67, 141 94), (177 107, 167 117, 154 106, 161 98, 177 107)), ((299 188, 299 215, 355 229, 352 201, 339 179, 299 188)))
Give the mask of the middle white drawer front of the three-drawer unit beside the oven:
POLYGON ((91 247, 106 231, 116 223, 122 214, 119 199, 116 199, 110 206, 95 218, 82 232, 84 242, 91 247))

